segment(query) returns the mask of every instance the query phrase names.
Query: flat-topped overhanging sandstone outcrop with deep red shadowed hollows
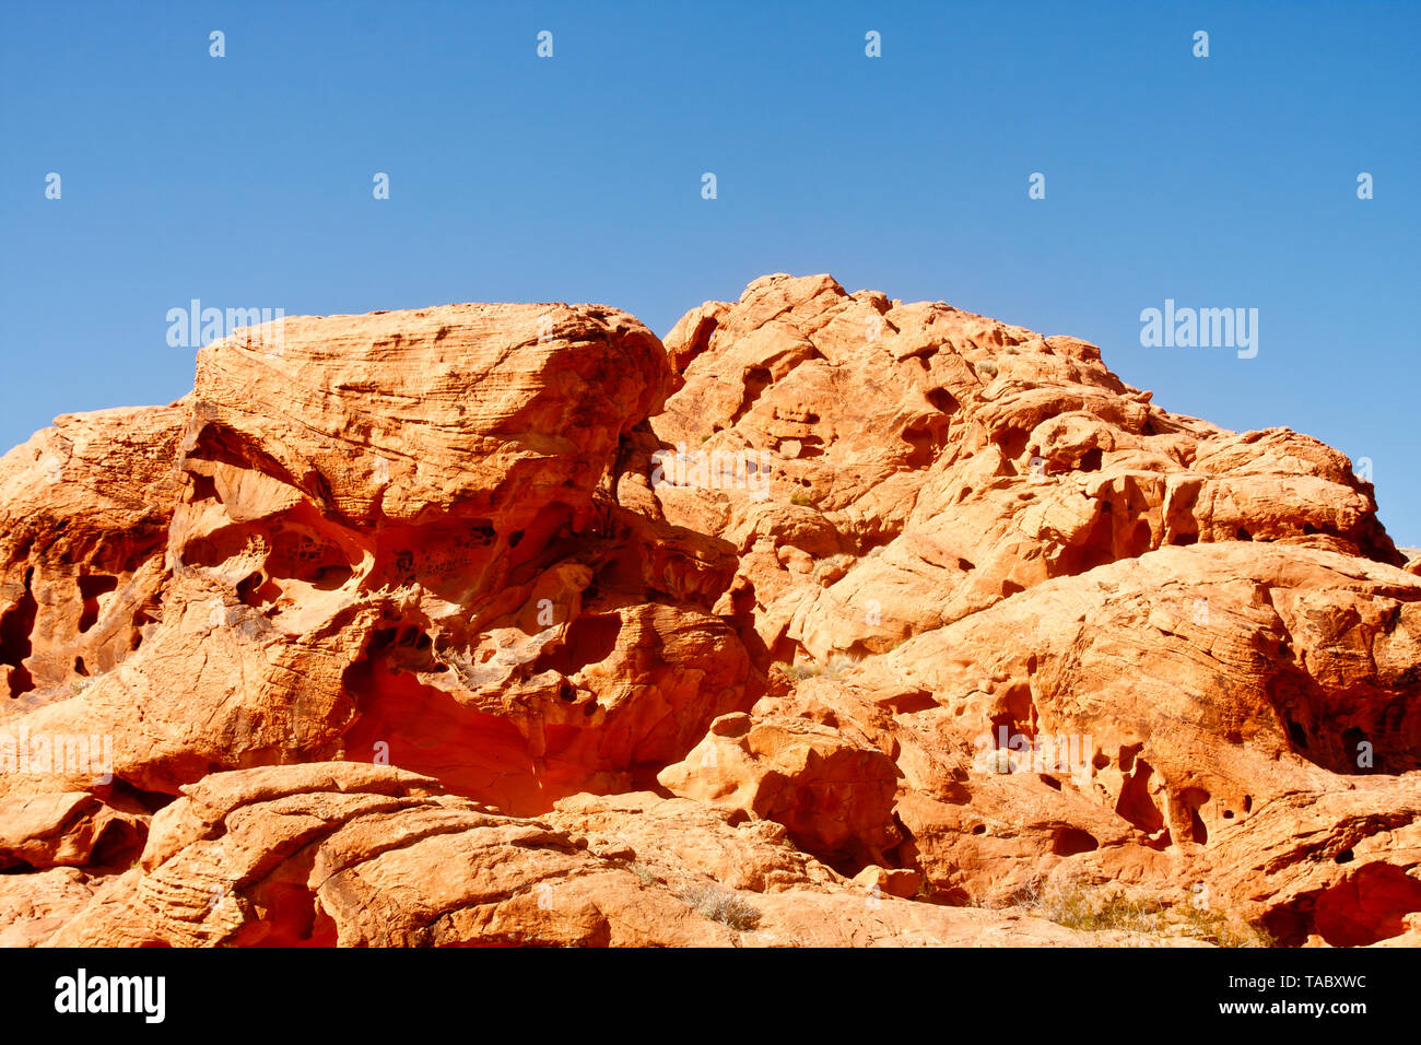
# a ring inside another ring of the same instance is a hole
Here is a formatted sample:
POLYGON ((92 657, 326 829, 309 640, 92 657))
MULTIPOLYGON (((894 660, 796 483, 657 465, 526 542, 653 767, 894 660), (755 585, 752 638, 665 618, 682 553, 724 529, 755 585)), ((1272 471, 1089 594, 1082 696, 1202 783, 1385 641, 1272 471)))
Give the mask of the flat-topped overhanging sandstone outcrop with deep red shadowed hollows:
POLYGON ((594 505, 669 377, 591 306, 288 318, 205 348, 166 444, 161 620, 44 728, 114 735, 148 793, 324 758, 522 812, 649 779, 749 681, 709 613, 730 570, 686 601, 627 569, 659 529, 594 505))

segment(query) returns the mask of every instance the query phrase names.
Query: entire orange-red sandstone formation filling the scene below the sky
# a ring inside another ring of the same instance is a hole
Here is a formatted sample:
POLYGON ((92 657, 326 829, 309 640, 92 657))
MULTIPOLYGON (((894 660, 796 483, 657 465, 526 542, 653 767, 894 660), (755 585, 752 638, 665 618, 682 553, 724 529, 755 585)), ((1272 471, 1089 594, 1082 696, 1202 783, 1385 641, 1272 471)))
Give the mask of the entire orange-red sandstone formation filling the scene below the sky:
POLYGON ((0 761, 111 751, 0 773, 0 938, 1414 943, 1417 573, 1330 446, 827 276, 286 318, 0 461, 0 761))

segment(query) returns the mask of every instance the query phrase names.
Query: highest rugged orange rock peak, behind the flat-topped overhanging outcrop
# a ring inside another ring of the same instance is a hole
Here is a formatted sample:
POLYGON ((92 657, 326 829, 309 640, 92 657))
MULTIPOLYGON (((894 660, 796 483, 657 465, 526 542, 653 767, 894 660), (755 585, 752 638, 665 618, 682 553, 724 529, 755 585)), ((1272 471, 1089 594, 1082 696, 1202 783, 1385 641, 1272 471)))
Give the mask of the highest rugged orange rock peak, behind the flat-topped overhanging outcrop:
POLYGON ((764 491, 662 485, 742 552, 764 644, 882 653, 1039 584, 1158 547, 1302 545, 1400 566, 1371 485, 1286 429, 1169 414, 1100 350, 942 303, 769 276, 668 336, 654 428, 773 456, 764 491))

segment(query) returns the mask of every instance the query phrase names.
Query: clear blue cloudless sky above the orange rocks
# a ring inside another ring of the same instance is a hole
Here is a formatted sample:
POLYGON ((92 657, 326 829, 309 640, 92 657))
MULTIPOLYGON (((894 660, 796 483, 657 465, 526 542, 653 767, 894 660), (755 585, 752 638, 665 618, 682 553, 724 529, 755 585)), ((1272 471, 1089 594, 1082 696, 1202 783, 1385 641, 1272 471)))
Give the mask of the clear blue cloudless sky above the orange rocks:
POLYGON ((604 301, 664 334, 830 272, 1368 456, 1421 545, 1418 38, 1415 3, 3 0, 0 444, 188 391, 193 297, 604 301), (1141 347, 1165 299, 1256 307, 1258 358, 1141 347))

